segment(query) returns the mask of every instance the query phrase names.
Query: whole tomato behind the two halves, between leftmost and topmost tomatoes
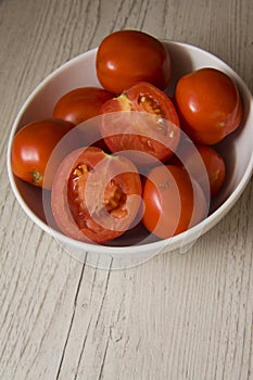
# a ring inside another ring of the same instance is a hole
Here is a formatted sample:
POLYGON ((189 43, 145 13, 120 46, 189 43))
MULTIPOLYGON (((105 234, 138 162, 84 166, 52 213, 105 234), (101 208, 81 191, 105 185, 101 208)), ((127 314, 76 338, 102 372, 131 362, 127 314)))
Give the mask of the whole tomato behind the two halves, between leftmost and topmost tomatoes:
POLYGON ((102 104, 113 94, 97 87, 80 87, 63 94, 53 109, 53 116, 75 125, 99 114, 102 104))

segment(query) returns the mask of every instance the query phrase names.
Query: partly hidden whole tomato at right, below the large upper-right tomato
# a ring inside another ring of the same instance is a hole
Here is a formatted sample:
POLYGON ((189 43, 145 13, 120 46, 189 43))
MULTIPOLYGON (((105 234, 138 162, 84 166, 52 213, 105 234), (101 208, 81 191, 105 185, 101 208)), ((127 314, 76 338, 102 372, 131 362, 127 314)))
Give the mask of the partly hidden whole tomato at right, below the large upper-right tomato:
MULTIPOLYGON (((195 150, 188 150, 187 147, 181 148, 179 165, 184 165, 189 175, 192 176, 202 187, 206 189, 206 176, 208 180, 208 194, 214 198, 225 181, 226 164, 223 156, 214 149, 214 147, 195 143, 195 150), (203 172, 202 160, 205 173, 203 172)), ((174 163, 175 161, 172 160, 174 163)))

